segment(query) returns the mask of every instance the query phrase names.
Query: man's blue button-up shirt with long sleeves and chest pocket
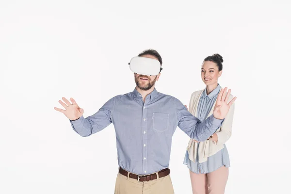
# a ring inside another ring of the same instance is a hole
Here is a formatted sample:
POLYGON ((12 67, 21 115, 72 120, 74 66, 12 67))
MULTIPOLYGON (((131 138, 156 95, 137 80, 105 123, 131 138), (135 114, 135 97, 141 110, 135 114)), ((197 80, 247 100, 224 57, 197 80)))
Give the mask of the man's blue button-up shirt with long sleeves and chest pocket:
POLYGON ((144 102, 134 89, 111 98, 97 113, 70 122, 83 137, 113 123, 119 166, 131 173, 146 175, 169 166, 172 136, 177 126, 191 138, 205 141, 219 128, 222 120, 211 115, 201 122, 177 98, 156 89, 144 102))

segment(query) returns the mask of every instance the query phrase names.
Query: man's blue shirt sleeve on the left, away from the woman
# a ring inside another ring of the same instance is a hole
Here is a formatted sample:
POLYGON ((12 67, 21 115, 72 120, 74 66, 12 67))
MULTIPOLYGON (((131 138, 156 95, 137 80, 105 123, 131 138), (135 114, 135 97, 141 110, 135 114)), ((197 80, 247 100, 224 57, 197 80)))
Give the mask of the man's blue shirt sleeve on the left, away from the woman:
POLYGON ((90 136, 112 123, 112 114, 114 110, 114 97, 108 100, 97 113, 84 118, 71 121, 72 128, 82 137, 90 136))

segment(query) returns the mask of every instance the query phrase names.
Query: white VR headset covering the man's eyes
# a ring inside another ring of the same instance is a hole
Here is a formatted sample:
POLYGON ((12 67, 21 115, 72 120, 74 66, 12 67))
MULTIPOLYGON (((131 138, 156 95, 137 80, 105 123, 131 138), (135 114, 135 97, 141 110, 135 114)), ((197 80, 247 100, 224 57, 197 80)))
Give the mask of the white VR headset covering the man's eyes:
POLYGON ((147 57, 133 57, 129 62, 129 68, 133 73, 156 76, 162 71, 158 60, 147 57))

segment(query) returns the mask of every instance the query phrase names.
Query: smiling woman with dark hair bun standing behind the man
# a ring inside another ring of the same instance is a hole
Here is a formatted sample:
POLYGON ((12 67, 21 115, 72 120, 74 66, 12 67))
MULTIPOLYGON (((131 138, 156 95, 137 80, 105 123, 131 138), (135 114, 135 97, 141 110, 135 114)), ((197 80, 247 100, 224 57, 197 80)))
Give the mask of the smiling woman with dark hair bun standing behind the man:
MULTIPOLYGON (((201 121, 213 113, 219 91, 223 58, 219 54, 204 59, 201 78, 206 88, 191 95, 189 112, 201 121)), ((232 99, 230 95, 229 99, 232 99)), ((219 129, 204 142, 189 141, 184 164, 190 169, 193 194, 224 194, 228 178, 229 156, 226 141, 231 136, 234 104, 219 129)))

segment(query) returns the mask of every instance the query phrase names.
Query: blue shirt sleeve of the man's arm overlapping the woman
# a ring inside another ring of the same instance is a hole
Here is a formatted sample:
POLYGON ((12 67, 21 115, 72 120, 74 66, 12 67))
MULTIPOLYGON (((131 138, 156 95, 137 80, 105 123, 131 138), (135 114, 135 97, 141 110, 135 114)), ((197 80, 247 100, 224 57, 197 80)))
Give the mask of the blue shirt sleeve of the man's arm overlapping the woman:
POLYGON ((187 108, 178 99, 175 105, 178 127, 190 138, 199 142, 207 140, 221 126, 223 121, 223 119, 214 118, 212 114, 205 121, 201 122, 187 111, 187 108))

